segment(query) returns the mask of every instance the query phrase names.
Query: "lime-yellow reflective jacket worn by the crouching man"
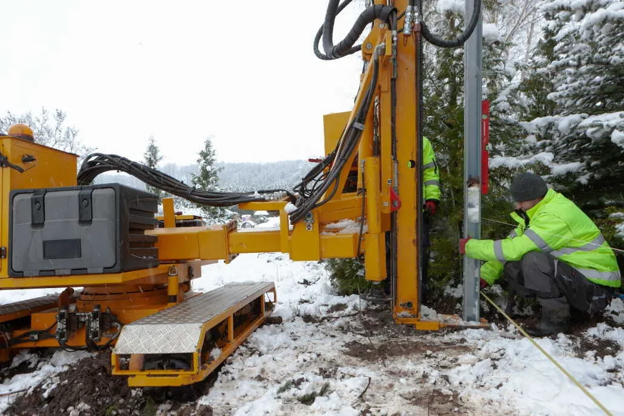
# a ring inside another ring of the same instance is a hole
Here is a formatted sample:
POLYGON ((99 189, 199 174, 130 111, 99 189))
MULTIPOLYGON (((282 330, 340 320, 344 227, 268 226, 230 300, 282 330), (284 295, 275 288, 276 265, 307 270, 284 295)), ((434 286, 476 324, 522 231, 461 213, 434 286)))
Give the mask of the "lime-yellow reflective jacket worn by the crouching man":
POLYGON ((615 254, 598 227, 578 206, 550 189, 543 200, 526 211, 529 223, 511 213, 519 225, 505 239, 470 239, 466 256, 487 260, 481 278, 493 284, 505 261, 522 259, 529 251, 542 251, 570 264, 590 281, 620 287, 615 254))

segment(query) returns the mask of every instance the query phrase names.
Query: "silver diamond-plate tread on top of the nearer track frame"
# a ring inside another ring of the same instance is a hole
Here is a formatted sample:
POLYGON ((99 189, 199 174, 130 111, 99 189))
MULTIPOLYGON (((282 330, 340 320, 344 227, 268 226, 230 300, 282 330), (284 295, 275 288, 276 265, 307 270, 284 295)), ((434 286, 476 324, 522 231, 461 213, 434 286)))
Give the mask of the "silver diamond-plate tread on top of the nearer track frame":
POLYGON ((230 283, 123 327, 113 354, 180 354, 197 351, 203 325, 232 307, 271 291, 273 283, 230 283))

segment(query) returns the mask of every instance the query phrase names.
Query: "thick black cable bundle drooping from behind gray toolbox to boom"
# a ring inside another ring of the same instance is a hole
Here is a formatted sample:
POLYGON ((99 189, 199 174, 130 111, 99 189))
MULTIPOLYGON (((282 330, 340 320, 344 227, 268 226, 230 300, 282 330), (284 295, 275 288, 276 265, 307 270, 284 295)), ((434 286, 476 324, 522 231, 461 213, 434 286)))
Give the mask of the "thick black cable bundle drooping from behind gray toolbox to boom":
POLYGON ((266 198, 261 194, 269 193, 286 193, 291 200, 295 199, 295 195, 290 191, 282 189, 258 190, 254 192, 202 190, 188 186, 166 173, 159 172, 141 163, 133 162, 117 155, 105 155, 104 153, 92 153, 85 158, 78 173, 78 185, 89 185, 97 175, 111 170, 128 173, 148 185, 200 205, 232 206, 244 202, 265 201, 266 198))

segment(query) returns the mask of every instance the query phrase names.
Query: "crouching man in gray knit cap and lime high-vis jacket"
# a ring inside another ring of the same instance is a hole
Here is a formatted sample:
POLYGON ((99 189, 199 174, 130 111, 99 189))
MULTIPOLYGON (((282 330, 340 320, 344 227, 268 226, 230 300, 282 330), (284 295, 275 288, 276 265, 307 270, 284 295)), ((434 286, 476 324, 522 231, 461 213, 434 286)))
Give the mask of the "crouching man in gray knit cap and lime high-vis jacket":
POLYGON ((481 287, 504 274, 510 290, 536 296, 540 320, 532 336, 570 329, 570 307, 600 312, 620 287, 620 269, 612 248, 598 227, 578 206, 534 173, 523 173, 510 188, 515 201, 512 218, 518 226, 504 239, 460 239, 459 251, 485 260, 481 287))

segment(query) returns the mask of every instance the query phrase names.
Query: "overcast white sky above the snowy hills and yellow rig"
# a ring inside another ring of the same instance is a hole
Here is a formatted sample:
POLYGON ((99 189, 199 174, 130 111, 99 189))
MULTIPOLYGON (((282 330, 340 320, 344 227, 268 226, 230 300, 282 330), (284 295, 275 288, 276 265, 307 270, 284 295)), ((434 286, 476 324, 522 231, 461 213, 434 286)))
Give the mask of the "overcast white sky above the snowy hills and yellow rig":
MULTIPOLYGON (((225 162, 318 157, 323 114, 351 109, 361 72, 359 54, 314 56, 326 7, 5 1, 0 115, 64 110, 83 142, 133 160, 150 135, 163 163, 194 163, 209 135, 225 162)), ((362 8, 338 16, 334 42, 362 8)))

